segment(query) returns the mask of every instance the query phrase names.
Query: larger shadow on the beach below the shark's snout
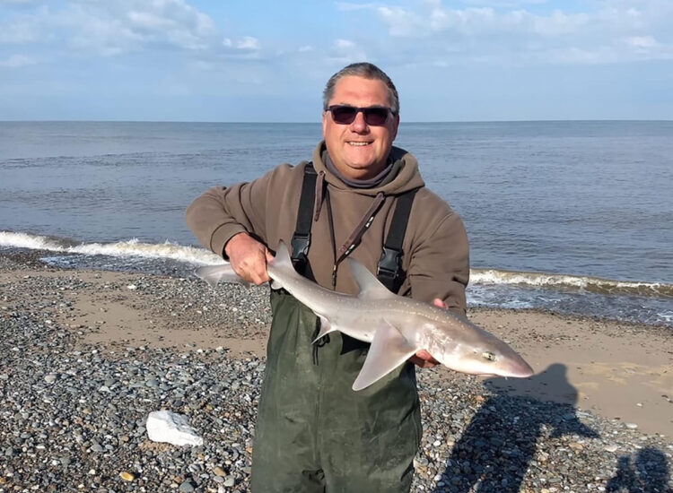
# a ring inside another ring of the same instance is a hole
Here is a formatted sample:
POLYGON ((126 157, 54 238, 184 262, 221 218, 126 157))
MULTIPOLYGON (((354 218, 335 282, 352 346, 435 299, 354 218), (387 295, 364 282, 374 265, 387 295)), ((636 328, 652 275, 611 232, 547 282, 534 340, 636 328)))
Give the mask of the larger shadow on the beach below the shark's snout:
MULTIPOLYGON (((526 379, 491 378, 488 397, 453 446, 445 486, 433 493, 516 493, 536 454, 538 437, 598 437, 577 419, 577 390, 564 365, 555 363, 526 379)), ((546 457, 537 457, 542 470, 546 457)))

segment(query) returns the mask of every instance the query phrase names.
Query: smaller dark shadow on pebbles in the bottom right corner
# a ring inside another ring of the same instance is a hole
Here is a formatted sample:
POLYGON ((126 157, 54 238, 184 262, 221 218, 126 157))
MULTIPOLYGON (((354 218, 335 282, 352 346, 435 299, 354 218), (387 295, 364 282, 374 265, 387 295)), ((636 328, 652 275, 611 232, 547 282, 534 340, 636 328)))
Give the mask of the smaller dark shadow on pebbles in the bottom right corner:
POLYGON ((666 455, 656 448, 638 451, 634 462, 628 455, 619 458, 614 478, 607 482, 607 493, 673 493, 669 488, 666 455))

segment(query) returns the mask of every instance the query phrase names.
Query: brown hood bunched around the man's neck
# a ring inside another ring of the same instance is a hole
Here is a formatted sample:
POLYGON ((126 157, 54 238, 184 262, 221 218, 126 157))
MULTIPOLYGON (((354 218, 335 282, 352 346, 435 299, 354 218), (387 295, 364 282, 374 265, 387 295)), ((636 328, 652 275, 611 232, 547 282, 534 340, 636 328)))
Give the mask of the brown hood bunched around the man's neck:
POLYGON ((384 195, 399 195, 413 188, 425 185, 423 177, 421 177, 421 173, 418 170, 418 161, 410 152, 399 147, 393 146, 389 154, 389 159, 393 161, 390 172, 396 173, 396 176, 390 181, 384 180, 383 185, 372 188, 352 188, 347 186, 341 178, 337 177, 327 168, 322 159, 323 152, 327 152, 325 141, 320 142, 315 151, 313 151, 313 167, 318 173, 322 171, 325 174, 325 180, 329 185, 335 186, 340 190, 359 195, 375 196, 380 193, 384 195))

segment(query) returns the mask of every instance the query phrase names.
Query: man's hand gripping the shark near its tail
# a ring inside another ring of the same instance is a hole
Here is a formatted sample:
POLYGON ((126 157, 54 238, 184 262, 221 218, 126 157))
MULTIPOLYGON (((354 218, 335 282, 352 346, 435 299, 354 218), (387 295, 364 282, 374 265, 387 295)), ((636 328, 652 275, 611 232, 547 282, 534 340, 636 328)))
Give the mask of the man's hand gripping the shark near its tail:
POLYGON ((267 262, 273 260, 274 255, 248 233, 232 236, 224 247, 224 253, 229 256, 233 272, 239 277, 257 285, 270 281, 267 262))

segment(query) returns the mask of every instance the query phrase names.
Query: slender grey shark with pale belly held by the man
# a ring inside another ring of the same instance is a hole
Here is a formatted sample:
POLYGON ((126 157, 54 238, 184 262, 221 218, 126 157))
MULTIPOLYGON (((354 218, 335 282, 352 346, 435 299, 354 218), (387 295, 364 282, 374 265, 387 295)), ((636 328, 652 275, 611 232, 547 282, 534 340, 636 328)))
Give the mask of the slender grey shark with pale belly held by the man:
MULTIPOLYGON (((328 290, 296 272, 283 241, 267 263, 267 272, 273 288, 287 290, 319 317, 314 343, 334 331, 371 343, 354 391, 376 383, 419 350, 427 350, 447 368, 470 375, 533 375, 529 364, 506 342, 466 316, 398 296, 357 260, 348 257, 346 262, 359 287, 357 295, 328 290)), ((249 285, 230 264, 199 267, 195 274, 213 287, 220 281, 249 285)))

